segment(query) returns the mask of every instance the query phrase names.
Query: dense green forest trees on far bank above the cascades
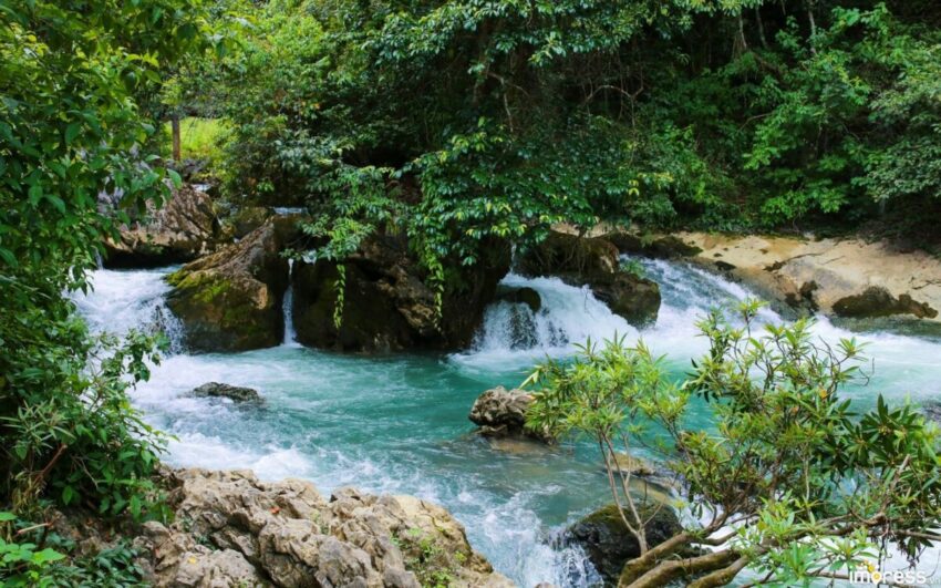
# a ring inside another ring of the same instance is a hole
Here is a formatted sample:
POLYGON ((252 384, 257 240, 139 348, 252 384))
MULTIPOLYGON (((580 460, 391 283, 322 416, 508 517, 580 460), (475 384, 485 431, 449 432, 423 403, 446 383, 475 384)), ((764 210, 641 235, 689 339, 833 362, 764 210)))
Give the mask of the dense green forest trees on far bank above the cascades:
POLYGON ((561 220, 852 225, 941 186, 930 4, 246 10, 244 50, 194 101, 232 123, 229 197, 307 205, 331 256, 391 225, 438 275, 561 220))

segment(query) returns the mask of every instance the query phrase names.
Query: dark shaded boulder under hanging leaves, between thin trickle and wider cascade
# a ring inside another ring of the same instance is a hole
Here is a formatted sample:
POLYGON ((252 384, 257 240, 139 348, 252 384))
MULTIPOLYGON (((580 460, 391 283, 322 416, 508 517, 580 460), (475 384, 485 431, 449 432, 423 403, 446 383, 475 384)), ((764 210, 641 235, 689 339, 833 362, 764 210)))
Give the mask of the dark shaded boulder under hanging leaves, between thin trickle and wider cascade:
POLYGON ((293 270, 293 321, 303 344, 342 351, 458 349, 471 343, 509 250, 495 246, 469 268, 452 268, 437 320, 435 292, 402 237, 369 238, 343 261, 342 321, 338 329, 340 270, 325 259, 293 270))

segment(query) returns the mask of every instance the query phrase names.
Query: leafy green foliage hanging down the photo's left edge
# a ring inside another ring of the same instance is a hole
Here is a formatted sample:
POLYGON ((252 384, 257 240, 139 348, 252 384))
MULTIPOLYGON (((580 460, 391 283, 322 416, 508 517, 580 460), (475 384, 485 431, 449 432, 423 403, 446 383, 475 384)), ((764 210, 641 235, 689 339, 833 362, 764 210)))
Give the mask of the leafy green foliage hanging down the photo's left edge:
POLYGON ((161 437, 126 390, 153 337, 90 337, 65 297, 174 174, 142 148, 165 68, 219 42, 199 0, 0 2, 0 504, 159 515, 161 437), (155 510, 156 508, 156 510, 155 510))

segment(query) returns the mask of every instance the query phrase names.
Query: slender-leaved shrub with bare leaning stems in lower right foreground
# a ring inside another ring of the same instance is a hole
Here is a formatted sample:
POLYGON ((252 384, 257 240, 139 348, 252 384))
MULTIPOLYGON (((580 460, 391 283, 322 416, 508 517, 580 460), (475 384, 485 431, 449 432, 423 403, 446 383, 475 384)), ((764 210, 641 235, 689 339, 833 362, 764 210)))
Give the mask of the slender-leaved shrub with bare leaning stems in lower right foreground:
POLYGON ((755 323, 759 305, 733 324, 713 312, 699 324, 710 351, 680 382, 662 358, 623 339, 548 361, 535 384, 532 427, 587 435, 608 466, 612 497, 641 554, 621 586, 722 586, 748 568, 763 584, 846 578, 889 545, 916 563, 941 524, 939 431, 910 406, 852 410, 841 396, 865 378, 852 340, 814 341, 811 321, 755 323), (707 411, 713 425, 691 425, 707 411), (616 448, 647 447, 675 475, 702 526, 659 545, 644 534, 645 497, 614 463, 616 448), (679 559, 679 550, 710 546, 679 559))

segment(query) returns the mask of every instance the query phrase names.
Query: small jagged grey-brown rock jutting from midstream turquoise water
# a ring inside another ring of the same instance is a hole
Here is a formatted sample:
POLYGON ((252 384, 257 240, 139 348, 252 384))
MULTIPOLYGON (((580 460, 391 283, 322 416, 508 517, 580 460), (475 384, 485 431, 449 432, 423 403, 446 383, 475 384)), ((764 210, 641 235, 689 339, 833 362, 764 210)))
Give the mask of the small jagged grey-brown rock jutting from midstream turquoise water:
POLYGON ((532 395, 523 390, 507 390, 498 385, 487 390, 474 401, 471 422, 479 426, 479 433, 488 437, 528 437, 544 443, 554 443, 548 431, 526 427, 526 411, 532 395))

